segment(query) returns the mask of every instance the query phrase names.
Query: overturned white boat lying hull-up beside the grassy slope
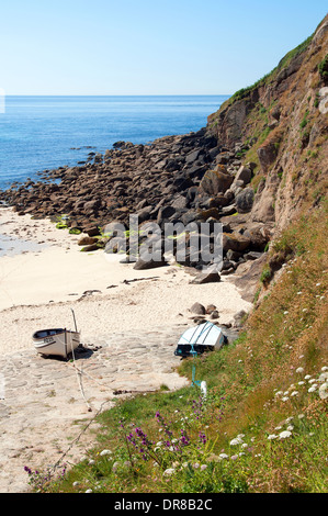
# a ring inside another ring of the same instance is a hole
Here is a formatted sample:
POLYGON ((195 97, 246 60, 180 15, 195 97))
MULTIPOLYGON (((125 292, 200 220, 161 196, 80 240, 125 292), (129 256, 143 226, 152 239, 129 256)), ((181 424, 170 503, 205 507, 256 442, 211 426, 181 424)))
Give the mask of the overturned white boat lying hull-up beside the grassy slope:
POLYGON ((205 351, 219 349, 227 341, 223 330, 213 323, 206 322, 186 329, 178 341, 174 355, 191 357, 205 351))

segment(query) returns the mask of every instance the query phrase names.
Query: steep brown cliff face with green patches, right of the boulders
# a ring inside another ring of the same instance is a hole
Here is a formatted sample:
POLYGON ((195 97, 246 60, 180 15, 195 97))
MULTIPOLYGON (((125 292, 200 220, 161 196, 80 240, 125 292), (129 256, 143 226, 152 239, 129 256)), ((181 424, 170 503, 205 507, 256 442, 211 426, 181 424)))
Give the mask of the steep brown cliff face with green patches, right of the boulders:
POLYGON ((249 222, 283 229, 327 190, 328 15, 252 87, 208 116, 206 132, 253 164, 249 222))

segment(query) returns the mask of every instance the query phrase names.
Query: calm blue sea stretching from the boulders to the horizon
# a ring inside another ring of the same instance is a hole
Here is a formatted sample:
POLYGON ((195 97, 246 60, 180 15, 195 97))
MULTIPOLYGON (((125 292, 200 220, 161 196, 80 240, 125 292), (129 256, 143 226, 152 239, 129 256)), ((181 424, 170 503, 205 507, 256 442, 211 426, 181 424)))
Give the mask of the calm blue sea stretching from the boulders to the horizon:
POLYGON ((88 153, 104 153, 121 139, 146 144, 199 131, 226 99, 7 97, 5 112, 0 113, 0 189, 36 179, 38 171, 73 166, 88 153))

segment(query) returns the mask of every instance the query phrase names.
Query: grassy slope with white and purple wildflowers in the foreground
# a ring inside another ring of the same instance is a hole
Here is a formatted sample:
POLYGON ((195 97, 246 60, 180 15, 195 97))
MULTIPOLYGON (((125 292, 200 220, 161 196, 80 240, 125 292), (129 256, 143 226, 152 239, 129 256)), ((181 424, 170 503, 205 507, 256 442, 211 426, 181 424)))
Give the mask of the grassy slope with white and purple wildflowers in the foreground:
MULTIPOLYGON (((117 400, 86 459, 33 472, 41 492, 327 492, 327 203, 271 246, 279 277, 234 344, 183 360, 204 380, 117 400), (282 265, 282 263, 281 263, 282 265)), ((267 266, 268 267, 268 266, 267 266)), ((272 279, 273 278, 273 279, 272 279)))

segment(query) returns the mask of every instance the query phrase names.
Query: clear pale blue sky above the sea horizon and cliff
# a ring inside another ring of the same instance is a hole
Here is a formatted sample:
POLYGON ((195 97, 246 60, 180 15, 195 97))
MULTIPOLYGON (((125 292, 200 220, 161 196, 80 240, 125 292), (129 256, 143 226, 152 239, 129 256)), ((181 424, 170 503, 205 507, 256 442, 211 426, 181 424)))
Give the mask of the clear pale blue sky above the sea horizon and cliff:
POLYGON ((271 71, 327 0, 1 0, 13 94, 233 94, 271 71))

